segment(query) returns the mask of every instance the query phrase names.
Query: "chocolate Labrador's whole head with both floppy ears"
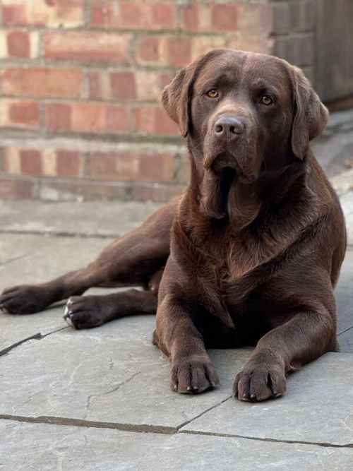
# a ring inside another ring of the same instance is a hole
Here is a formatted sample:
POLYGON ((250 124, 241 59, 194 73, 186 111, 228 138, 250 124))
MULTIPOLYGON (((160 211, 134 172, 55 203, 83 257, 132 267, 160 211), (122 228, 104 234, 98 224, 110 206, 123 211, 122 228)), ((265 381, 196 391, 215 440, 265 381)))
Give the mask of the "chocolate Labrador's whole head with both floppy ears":
POLYGON ((297 67, 265 54, 215 49, 182 69, 162 103, 198 173, 232 169, 243 183, 303 160, 328 111, 297 67))

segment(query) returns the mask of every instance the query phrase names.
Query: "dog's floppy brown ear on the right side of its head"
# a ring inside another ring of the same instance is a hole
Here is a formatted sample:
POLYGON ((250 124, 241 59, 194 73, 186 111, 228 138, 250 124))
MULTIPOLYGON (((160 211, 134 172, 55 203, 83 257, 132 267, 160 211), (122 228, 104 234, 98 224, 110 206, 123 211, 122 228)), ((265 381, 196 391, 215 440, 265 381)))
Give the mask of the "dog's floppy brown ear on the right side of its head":
POLYGON ((300 68, 291 66, 294 120, 292 124, 292 151, 303 159, 309 141, 316 138, 328 123, 328 109, 313 90, 300 68))

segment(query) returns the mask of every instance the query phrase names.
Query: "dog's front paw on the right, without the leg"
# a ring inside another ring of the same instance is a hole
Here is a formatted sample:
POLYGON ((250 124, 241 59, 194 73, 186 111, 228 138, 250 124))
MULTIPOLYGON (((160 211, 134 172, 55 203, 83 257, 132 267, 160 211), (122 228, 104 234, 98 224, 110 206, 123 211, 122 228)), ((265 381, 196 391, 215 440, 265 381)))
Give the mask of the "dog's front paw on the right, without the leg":
POLYGON ((256 402, 285 394, 286 378, 277 364, 246 365, 234 381, 234 395, 239 400, 256 402))

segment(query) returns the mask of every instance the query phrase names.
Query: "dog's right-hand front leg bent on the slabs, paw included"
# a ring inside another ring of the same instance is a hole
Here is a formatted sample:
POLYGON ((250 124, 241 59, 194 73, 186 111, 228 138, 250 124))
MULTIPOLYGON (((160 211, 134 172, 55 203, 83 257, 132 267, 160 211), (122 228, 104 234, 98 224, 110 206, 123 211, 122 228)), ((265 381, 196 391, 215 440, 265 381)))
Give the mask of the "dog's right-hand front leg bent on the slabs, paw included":
POLYGON ((237 374, 239 400, 277 398, 286 390, 286 374, 335 349, 335 317, 318 302, 270 330, 258 341, 244 369, 237 374))

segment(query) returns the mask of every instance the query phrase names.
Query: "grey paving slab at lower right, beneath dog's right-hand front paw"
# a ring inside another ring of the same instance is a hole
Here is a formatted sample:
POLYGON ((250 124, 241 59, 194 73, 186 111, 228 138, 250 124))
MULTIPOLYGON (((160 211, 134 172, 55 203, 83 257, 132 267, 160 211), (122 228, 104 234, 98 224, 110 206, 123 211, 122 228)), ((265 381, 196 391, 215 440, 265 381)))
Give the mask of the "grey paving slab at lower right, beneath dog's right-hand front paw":
POLYGON ((353 446, 352 354, 328 353, 306 365, 278 400, 229 399, 181 430, 353 446))

